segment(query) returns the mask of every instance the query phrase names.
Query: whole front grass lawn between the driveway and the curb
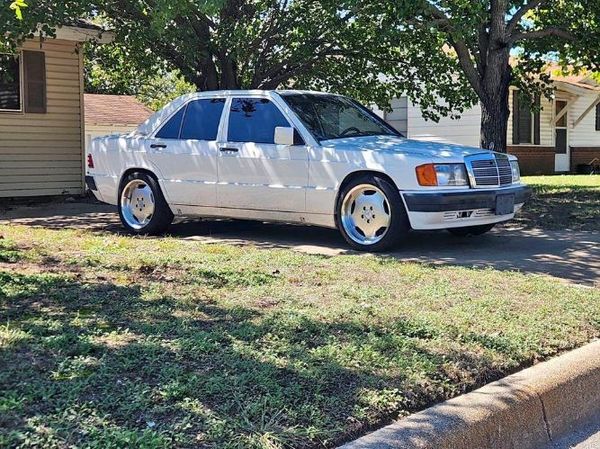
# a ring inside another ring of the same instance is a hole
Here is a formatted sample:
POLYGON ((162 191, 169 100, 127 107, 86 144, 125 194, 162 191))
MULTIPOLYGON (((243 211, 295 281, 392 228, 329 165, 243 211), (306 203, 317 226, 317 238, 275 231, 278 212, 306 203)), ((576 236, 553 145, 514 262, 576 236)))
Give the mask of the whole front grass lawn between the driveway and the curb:
POLYGON ((599 291, 542 276, 0 235, 0 447, 333 447, 600 337, 599 291))

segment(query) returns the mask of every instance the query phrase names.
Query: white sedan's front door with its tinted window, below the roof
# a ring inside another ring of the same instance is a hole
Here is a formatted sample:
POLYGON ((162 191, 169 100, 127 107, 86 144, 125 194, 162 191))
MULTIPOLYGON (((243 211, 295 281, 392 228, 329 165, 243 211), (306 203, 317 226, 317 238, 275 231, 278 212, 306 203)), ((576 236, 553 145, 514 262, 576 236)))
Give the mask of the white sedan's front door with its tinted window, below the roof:
POLYGON ((306 145, 276 145, 275 128, 291 127, 269 98, 234 97, 219 145, 218 203, 223 208, 304 212, 306 145))

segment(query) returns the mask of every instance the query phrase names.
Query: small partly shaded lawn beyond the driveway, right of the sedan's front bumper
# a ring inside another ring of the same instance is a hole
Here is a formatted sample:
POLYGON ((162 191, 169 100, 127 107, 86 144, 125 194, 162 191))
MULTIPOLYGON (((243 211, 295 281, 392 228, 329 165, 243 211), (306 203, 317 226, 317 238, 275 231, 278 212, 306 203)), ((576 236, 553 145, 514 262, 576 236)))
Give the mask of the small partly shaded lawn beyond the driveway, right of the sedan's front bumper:
POLYGON ((551 230, 600 231, 600 175, 523 178, 534 197, 517 220, 551 230))

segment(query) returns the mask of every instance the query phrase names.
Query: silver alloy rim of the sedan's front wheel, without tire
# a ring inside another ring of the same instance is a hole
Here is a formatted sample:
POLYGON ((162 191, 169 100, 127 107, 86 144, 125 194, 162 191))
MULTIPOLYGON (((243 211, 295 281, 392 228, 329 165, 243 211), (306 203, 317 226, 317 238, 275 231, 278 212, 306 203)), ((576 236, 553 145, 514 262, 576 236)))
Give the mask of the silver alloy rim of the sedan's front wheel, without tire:
POLYGON ((379 188, 360 184, 346 194, 340 218, 352 240, 361 245, 374 245, 387 234, 392 210, 385 193, 379 188))

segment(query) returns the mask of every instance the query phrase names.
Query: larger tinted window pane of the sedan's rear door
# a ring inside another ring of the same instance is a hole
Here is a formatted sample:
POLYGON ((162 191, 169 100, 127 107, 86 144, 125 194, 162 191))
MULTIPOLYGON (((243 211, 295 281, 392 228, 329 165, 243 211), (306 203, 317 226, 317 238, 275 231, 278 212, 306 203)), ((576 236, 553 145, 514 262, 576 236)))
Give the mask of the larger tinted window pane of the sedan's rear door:
POLYGON ((181 128, 182 139, 217 140, 219 122, 225 99, 214 98, 191 102, 185 112, 181 128))

